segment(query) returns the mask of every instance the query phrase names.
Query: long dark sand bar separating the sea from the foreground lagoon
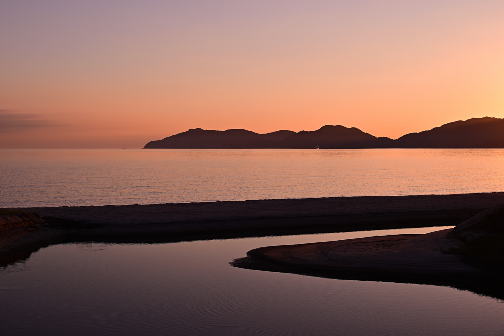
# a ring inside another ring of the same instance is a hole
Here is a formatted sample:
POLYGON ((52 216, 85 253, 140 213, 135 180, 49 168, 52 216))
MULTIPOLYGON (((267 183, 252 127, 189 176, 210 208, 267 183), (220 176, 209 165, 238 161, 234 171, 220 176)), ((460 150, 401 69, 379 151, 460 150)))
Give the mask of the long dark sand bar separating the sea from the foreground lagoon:
POLYGON ((36 241, 41 246, 60 241, 171 242, 450 226, 503 202, 504 193, 475 193, 0 209, 42 218, 33 230, 1 232, 0 258, 28 245, 33 248, 36 241))

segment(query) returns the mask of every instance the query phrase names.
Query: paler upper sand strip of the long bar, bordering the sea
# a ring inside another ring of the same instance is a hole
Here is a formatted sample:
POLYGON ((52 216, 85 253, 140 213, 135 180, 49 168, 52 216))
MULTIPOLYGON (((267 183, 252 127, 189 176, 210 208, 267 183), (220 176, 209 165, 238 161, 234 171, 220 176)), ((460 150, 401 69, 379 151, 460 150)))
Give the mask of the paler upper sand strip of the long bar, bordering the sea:
POLYGON ((159 224, 370 213, 480 210, 500 203, 504 203, 504 192, 16 209, 36 212, 40 216, 72 218, 89 223, 159 224))

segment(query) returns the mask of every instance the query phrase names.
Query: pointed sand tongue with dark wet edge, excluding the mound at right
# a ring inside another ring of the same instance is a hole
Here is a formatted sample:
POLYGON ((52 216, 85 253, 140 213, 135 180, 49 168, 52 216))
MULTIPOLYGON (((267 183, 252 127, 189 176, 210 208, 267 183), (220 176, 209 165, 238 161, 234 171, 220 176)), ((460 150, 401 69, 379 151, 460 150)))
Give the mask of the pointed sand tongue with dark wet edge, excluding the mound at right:
POLYGON ((504 274, 443 253, 453 229, 255 248, 234 267, 323 278, 448 286, 504 300, 504 274))

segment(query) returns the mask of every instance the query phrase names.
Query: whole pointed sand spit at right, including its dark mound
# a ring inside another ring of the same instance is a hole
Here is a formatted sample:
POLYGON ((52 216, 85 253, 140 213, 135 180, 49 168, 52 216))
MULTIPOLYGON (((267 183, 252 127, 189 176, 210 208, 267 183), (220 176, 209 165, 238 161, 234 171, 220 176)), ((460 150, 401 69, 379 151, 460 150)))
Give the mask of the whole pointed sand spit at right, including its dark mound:
POLYGON ((259 247, 231 264, 339 279, 447 285, 504 299, 504 204, 454 229, 259 247))

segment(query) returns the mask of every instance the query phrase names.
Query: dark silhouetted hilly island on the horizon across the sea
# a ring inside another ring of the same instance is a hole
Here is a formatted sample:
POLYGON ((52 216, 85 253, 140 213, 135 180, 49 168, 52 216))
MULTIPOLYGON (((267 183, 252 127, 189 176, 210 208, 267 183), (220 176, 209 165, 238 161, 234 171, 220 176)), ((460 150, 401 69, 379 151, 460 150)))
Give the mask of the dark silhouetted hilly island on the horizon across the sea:
POLYGON ((192 128, 150 141, 144 148, 504 148, 504 119, 472 118, 398 139, 376 137, 356 127, 326 125, 316 131, 256 133, 192 128))

